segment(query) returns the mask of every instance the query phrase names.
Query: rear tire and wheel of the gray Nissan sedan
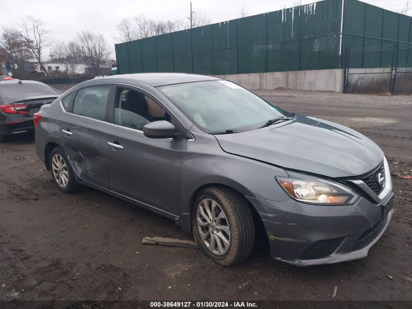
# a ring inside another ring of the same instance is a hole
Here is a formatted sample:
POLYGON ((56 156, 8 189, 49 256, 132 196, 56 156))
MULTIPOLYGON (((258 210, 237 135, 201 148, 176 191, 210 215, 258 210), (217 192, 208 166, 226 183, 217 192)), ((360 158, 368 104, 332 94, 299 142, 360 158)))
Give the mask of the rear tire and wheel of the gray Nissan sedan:
POLYGON ((75 192, 78 183, 64 151, 60 147, 55 147, 49 158, 50 173, 59 190, 64 193, 75 192))

